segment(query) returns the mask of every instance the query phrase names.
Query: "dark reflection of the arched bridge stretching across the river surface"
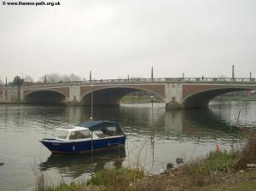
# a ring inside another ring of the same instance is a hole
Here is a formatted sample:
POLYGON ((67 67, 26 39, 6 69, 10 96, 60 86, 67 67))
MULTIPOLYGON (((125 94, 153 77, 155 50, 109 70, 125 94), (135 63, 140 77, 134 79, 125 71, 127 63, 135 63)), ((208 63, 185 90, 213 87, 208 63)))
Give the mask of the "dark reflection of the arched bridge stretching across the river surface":
MULTIPOLYGON (((249 104, 249 102, 243 103, 249 104)), ((8 116, 11 105, 6 105, 5 107, 1 111, 3 120, 7 120, 6 116, 8 116)), ((218 111, 223 111, 224 108, 230 107, 230 105, 223 106, 218 104, 218 107, 220 107, 217 109, 218 111)), ((90 119, 90 107, 38 107, 23 105, 18 107, 18 109, 26 112, 12 115, 11 118, 14 121, 24 118, 35 119, 39 124, 50 124, 52 126, 51 128, 45 127, 46 130, 53 130, 55 126, 60 126, 61 124, 78 124, 90 119), (38 113, 38 111, 40 112, 38 113), (41 115, 44 118, 41 118, 41 115)), ((124 126, 126 133, 136 133, 142 136, 151 135, 153 129, 159 135, 164 135, 166 130, 174 134, 180 134, 195 131, 196 128, 212 128, 212 130, 221 131, 236 129, 235 124, 232 124, 229 119, 222 118, 222 113, 215 113, 214 107, 210 109, 166 110, 163 103, 154 103, 153 113, 151 104, 124 104, 120 107, 97 106, 94 109, 95 119, 116 121, 124 126)), ((237 118, 238 110, 234 113, 236 115, 235 118, 237 118)), ((250 113, 253 114, 251 110, 246 111, 246 108, 241 113, 244 113, 246 116, 249 116, 250 113)))

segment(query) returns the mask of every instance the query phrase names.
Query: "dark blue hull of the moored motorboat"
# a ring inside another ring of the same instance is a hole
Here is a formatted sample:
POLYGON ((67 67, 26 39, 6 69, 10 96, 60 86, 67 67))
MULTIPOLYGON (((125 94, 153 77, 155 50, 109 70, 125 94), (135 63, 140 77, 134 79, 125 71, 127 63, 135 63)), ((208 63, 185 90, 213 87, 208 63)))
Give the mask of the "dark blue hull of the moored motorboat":
POLYGON ((55 139, 43 139, 40 142, 52 153, 86 153, 109 148, 125 147, 125 139, 126 136, 120 136, 81 142, 60 142, 55 139))

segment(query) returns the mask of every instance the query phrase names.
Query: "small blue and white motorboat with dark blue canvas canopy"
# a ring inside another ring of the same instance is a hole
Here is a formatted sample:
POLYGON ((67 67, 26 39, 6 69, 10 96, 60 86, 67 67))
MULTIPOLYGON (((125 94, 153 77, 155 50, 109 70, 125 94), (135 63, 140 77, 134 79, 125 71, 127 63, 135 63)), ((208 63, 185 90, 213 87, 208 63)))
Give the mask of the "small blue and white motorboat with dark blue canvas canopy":
POLYGON ((52 153, 86 153, 125 147, 125 139, 118 123, 88 120, 68 129, 58 128, 55 137, 40 142, 52 153))

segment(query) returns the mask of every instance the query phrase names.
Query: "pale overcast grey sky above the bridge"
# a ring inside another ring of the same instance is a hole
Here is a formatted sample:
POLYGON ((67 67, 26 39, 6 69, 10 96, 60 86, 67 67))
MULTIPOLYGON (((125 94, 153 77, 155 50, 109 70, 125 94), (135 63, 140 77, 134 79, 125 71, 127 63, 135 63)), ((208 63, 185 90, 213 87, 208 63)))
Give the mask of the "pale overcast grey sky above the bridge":
POLYGON ((233 63, 236 77, 256 77, 255 0, 59 1, 1 3, 2 79, 89 78, 90 70, 99 79, 150 78, 152 66, 156 78, 230 77, 233 63))

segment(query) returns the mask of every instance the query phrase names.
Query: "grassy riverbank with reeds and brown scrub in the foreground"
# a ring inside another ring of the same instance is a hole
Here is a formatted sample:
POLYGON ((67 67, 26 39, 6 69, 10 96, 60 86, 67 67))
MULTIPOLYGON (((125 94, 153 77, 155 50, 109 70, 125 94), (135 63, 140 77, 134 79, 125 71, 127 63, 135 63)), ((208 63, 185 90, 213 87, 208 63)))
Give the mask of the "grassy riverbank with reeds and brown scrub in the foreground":
MULTIPOLYGON (((88 182, 66 184, 37 190, 47 191, 156 191, 156 190, 255 190, 256 138, 249 137, 241 151, 216 150, 206 158, 168 169, 161 175, 148 176, 137 169, 110 169, 96 172, 88 182)), ((40 185, 40 182, 38 182, 40 185)))

